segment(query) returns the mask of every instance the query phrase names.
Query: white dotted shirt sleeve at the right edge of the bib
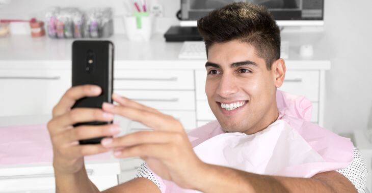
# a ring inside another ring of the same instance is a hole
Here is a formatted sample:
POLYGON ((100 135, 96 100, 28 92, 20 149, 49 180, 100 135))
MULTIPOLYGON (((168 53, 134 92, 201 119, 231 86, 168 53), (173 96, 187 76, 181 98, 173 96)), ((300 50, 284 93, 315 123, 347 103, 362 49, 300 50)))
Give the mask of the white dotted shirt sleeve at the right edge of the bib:
POLYGON ((354 159, 347 168, 336 170, 347 177, 357 188, 358 193, 365 193, 368 170, 363 155, 354 147, 354 159))

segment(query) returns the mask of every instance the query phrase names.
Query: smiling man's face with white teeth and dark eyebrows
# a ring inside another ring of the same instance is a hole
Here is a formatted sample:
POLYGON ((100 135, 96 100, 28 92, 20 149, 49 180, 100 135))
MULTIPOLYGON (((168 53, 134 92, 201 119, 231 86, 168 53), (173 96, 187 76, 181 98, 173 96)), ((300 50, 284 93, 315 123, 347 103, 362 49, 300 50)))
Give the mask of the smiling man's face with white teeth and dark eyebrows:
POLYGON ((275 120, 269 120, 277 112, 275 73, 253 46, 237 40, 214 44, 205 66, 209 107, 225 131, 253 134, 275 120))

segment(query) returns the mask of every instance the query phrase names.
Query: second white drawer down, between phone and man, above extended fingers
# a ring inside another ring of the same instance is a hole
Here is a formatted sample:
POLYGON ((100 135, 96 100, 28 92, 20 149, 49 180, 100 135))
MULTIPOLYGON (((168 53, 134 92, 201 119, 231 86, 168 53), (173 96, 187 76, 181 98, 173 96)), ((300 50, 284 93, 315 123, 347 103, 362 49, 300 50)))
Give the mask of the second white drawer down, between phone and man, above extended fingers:
POLYGON ((194 91, 114 90, 114 92, 158 110, 195 110, 194 91))

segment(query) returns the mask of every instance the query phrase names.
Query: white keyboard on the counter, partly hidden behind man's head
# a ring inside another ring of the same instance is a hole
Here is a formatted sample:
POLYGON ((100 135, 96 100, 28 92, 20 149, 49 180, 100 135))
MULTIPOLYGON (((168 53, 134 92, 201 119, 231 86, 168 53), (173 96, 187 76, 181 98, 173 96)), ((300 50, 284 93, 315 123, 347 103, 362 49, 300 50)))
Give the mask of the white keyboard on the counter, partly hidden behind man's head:
MULTIPOLYGON (((288 58, 289 42, 282 41, 280 43, 280 57, 288 58)), ((185 41, 183 42, 178 58, 180 59, 206 59, 205 44, 203 41, 185 41)))

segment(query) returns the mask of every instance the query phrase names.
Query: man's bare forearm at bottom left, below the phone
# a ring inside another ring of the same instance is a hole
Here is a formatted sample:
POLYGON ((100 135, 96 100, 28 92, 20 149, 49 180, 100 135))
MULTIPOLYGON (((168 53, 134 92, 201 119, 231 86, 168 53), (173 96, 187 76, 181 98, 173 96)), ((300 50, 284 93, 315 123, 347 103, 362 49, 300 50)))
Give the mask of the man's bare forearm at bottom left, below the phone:
POLYGON ((90 181, 85 167, 75 174, 60 174, 55 170, 56 193, 100 192, 90 181))

